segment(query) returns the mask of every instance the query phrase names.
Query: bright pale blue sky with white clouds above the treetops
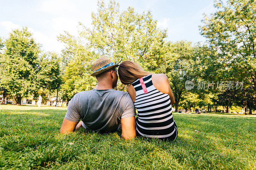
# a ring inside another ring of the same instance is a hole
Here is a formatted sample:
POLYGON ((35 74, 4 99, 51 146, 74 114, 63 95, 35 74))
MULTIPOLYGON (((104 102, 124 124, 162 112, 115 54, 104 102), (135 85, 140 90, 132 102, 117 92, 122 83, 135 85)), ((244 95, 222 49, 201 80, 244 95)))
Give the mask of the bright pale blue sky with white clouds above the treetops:
MULTIPOLYGON (((116 0, 120 11, 128 6, 136 12, 150 10, 158 27, 168 29, 168 40, 204 41, 199 34, 203 13, 215 12, 213 0, 116 0)), ((106 0, 105 3, 108 3, 106 0)), ((91 25, 91 13, 97 10, 96 0, 8 0, 1 1, 0 37, 6 39, 12 29, 27 26, 44 51, 60 53, 63 44, 57 36, 63 31, 77 35, 78 22, 91 25)))

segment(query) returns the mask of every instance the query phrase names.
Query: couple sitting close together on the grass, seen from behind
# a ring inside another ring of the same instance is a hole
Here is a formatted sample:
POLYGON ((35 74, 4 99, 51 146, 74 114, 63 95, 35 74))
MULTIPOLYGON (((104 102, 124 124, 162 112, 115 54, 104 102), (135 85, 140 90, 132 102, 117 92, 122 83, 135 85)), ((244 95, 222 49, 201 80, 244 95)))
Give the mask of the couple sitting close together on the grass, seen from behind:
POLYGON ((117 131, 121 124, 124 139, 136 136, 177 138, 177 126, 172 117, 175 100, 165 74, 150 74, 128 60, 117 65, 106 56, 93 61, 92 70, 91 75, 96 76, 98 84, 72 98, 60 133, 69 133, 80 127, 112 132, 117 131), (118 66, 119 78, 128 85, 128 93, 113 89, 117 84, 118 66), (138 111, 136 119, 135 108, 138 111))

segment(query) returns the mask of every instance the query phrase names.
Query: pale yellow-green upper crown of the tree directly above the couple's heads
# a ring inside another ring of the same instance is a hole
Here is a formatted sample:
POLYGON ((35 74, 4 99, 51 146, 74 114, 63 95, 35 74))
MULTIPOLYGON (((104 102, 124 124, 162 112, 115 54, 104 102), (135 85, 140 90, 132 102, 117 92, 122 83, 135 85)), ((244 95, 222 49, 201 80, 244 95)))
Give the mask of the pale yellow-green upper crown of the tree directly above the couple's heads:
POLYGON ((92 49, 111 56, 116 63, 144 62, 166 55, 167 31, 156 27, 151 12, 138 14, 132 7, 120 12, 115 1, 110 1, 108 6, 98 1, 97 13, 92 13, 92 29, 84 27, 81 35, 88 39, 92 49))

